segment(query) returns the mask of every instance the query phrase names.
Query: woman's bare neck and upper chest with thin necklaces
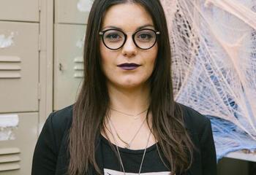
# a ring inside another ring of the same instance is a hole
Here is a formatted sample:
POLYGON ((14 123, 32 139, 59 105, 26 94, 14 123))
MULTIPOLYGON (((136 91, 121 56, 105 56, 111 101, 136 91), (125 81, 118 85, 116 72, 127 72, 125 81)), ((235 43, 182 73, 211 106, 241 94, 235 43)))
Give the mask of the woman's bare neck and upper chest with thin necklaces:
MULTIPOLYGON (((150 88, 141 86, 140 88, 117 88, 108 85, 110 96, 110 115, 105 118, 107 133, 102 133, 107 136, 110 142, 116 144, 115 139, 118 136, 119 147, 127 147, 123 141, 129 143, 130 149, 144 149, 147 143, 148 134, 151 132, 151 113, 148 113, 148 121, 146 122, 146 110, 150 104, 150 88), (111 123, 111 124, 110 124, 111 123), (113 128, 111 131, 110 128, 113 128), (110 132, 108 132, 110 131, 110 132), (117 135, 118 133, 118 135, 117 135), (131 142, 131 140, 134 140, 131 142)), ((148 146, 155 144, 154 136, 151 136, 148 146)))

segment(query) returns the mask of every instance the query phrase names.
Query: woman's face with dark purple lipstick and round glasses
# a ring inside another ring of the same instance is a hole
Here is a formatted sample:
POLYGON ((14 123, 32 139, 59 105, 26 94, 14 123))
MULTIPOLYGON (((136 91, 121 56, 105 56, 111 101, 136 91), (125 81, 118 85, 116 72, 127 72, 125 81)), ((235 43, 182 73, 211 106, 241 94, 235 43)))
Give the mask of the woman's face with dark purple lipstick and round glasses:
MULTIPOLYGON (((105 47, 102 40, 99 50, 102 58, 102 71, 107 78, 108 85, 116 88, 138 88, 146 85, 148 78, 154 70, 157 58, 157 43, 148 50, 136 47, 132 34, 139 28, 153 29, 151 16, 139 4, 117 4, 110 7, 102 23, 102 31, 120 28, 127 34, 127 41, 118 50, 105 47), (135 63, 135 66, 126 63, 135 63)), ((111 36, 116 39, 115 36, 111 36)), ((145 37, 141 35, 139 37, 145 37)))

